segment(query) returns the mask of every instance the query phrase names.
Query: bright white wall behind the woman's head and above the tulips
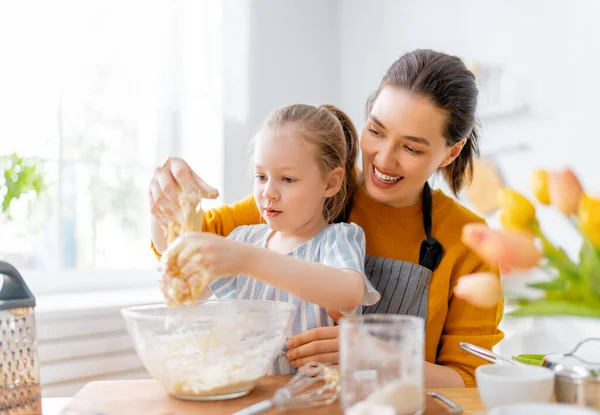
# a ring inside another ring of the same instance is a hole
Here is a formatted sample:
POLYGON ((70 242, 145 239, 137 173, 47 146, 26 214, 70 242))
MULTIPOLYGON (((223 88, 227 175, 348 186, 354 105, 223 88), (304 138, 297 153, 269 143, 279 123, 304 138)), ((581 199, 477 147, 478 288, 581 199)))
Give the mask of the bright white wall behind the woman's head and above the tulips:
MULTIPOLYGON (((482 118, 483 153, 528 144, 528 152, 496 158, 508 185, 525 193, 532 169, 565 165, 573 166, 590 190, 600 191, 600 27, 595 24, 600 2, 344 0, 340 15, 341 105, 358 125, 366 97, 405 51, 433 48, 503 65, 528 110, 482 118)), ((547 211, 544 217, 558 219, 547 211)), ((549 233, 576 249, 564 222, 549 233)))

